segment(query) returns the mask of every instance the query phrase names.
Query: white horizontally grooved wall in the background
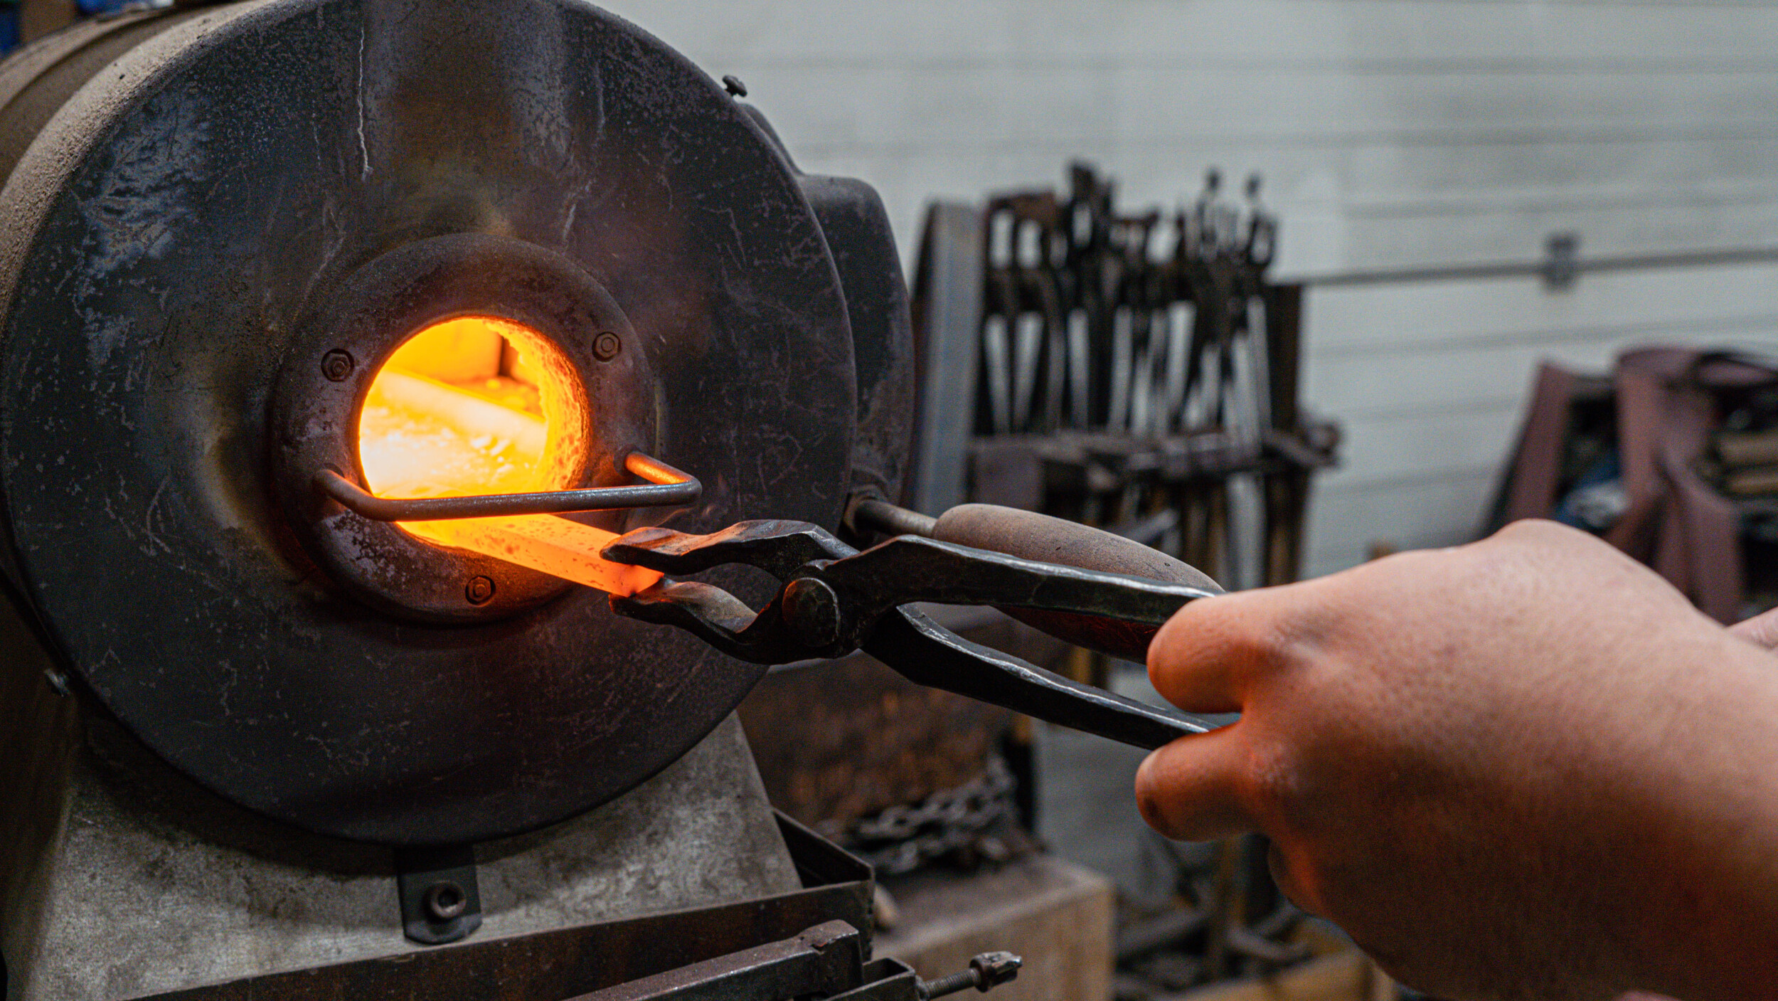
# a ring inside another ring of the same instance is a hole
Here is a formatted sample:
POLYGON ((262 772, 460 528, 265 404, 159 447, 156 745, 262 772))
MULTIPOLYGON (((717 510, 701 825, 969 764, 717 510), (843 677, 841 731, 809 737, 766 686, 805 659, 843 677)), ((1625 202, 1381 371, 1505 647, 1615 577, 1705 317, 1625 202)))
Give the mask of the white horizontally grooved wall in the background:
MULTIPOLYGON (((804 169, 889 204, 1266 176, 1282 276, 1778 245, 1778 5, 1636 0, 621 0, 741 76, 804 169)), ((1778 341, 1778 265, 1316 290, 1307 395, 1348 430, 1310 571, 1467 539, 1540 357, 1778 341)))

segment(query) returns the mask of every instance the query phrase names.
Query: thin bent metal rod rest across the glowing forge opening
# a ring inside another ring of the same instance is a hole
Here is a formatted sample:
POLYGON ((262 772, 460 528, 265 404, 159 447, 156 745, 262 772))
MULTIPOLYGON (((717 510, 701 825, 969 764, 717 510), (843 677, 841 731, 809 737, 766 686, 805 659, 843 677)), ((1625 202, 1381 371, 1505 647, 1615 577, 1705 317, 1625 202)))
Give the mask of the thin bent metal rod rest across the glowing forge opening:
POLYGON ((372 521, 444 521, 457 517, 507 517, 516 514, 574 514, 626 507, 672 507, 695 501, 704 492, 697 476, 653 455, 631 452, 624 469, 647 485, 583 487, 530 494, 475 494, 466 498, 379 498, 334 469, 315 475, 315 489, 347 510, 372 521))

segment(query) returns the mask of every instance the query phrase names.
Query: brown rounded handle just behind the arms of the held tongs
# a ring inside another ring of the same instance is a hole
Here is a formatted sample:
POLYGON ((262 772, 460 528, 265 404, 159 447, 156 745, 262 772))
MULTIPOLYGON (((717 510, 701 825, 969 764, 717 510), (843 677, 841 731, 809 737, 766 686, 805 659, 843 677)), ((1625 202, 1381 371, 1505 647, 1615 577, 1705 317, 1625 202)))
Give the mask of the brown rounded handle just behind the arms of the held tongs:
MULTIPOLYGON (((1182 583, 1221 594, 1221 587, 1207 574, 1159 549, 1031 510, 965 503, 939 516, 930 535, 941 542, 1006 553, 1024 560, 1182 583)), ((1136 663, 1147 661, 1149 642, 1157 629, 1150 624, 1072 612, 1035 612, 1031 608, 1003 608, 1003 612, 1060 640, 1136 663)))

